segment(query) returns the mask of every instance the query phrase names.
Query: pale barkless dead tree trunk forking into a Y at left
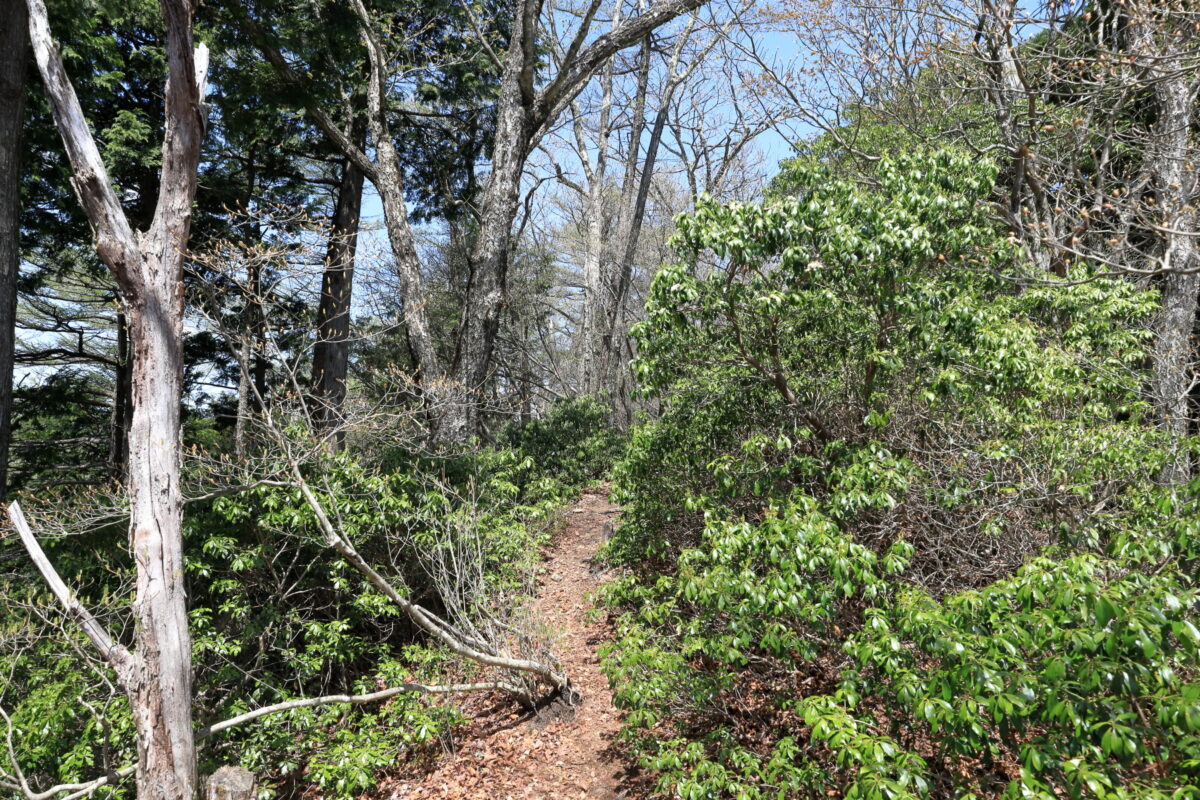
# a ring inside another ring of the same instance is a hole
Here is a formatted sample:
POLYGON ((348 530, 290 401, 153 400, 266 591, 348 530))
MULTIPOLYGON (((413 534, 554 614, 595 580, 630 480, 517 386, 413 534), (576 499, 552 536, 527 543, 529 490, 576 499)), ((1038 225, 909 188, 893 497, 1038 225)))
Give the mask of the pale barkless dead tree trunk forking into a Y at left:
POLYGON ((138 796, 194 800, 192 643, 184 583, 180 494, 182 261, 204 127, 208 52, 192 52, 192 6, 162 0, 167 36, 166 137, 154 222, 136 233, 121 210, 49 30, 28 0, 29 32, 54 121, 73 169, 96 252, 125 300, 132 349, 130 545, 137 579, 136 649, 110 656, 138 734, 138 796), (128 655, 128 654, 125 654, 128 655))

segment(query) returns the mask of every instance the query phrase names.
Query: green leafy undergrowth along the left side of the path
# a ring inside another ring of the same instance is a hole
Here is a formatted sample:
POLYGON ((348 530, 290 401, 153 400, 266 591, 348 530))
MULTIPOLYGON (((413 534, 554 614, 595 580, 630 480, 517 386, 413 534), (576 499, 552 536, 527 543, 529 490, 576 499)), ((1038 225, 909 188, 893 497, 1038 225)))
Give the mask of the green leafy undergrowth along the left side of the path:
MULTIPOLYGON (((510 428, 455 458, 401 449, 328 456, 310 480, 368 563, 439 613, 520 609, 560 510, 611 464, 619 444, 589 399, 510 428), (461 573, 461 575, 460 575, 461 573)), ((80 599, 127 638, 132 570, 120 507, 96 524, 97 495, 56 498, 82 530, 46 542, 80 599), (74 504, 74 506, 72 506, 74 504)), ((43 517, 47 519, 47 517, 43 517)), ((462 682, 480 669, 450 658, 324 543, 292 486, 259 486, 185 515, 196 718, 401 682, 462 682)), ((19 545, 4 542, 0 706, 35 787, 83 781, 134 760, 124 694, 90 645, 60 618, 19 545)), ((235 763, 264 796, 354 798, 402 756, 440 752, 461 716, 421 693, 377 705, 332 704, 265 717, 206 740, 200 771, 235 763)), ((127 783, 96 796, 131 796, 127 783)))

